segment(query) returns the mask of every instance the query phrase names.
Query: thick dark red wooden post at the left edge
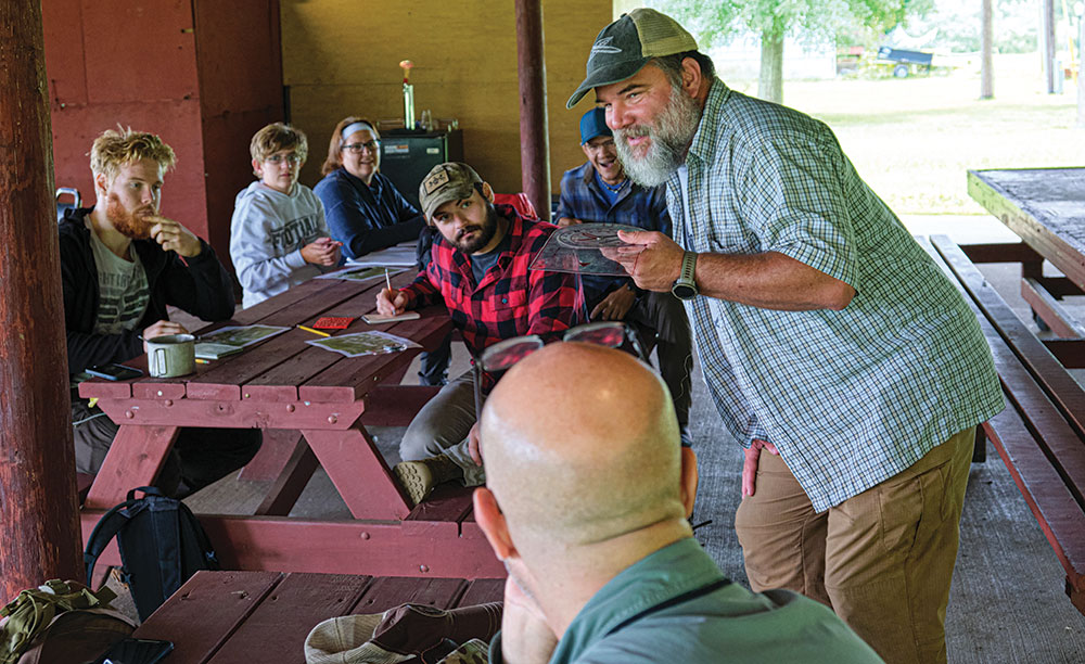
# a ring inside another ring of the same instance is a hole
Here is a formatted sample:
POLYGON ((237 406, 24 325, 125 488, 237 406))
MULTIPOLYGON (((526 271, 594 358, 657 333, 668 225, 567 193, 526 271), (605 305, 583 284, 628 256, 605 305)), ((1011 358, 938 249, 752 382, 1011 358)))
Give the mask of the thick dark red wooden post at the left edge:
POLYGON ((0 2, 0 602, 81 578, 39 2, 0 2))

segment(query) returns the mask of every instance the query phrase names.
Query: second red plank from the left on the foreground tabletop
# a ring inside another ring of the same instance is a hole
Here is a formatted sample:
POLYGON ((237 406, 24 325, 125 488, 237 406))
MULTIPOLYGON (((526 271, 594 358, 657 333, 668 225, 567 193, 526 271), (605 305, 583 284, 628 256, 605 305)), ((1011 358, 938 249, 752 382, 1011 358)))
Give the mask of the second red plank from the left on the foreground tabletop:
POLYGON ((370 584, 369 576, 289 574, 234 630, 209 664, 305 664, 305 637, 309 631, 322 621, 347 614, 370 584))

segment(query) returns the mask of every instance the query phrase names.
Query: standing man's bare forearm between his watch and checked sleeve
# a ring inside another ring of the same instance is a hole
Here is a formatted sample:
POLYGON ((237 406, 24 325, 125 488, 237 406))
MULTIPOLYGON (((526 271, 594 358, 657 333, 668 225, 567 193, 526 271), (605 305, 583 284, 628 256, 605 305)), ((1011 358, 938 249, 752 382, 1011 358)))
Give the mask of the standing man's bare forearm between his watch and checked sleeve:
POLYGON ((707 297, 788 311, 840 310, 855 295, 843 281, 778 252, 698 254, 695 281, 707 297))

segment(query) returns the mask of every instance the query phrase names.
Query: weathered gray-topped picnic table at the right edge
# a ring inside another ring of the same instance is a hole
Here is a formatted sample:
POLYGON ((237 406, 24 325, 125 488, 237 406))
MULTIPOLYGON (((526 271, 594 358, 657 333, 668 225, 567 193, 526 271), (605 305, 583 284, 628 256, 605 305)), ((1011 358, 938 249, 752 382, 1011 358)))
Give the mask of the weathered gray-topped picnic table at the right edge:
POLYGON ((1022 265, 1021 295, 1037 322, 1060 337, 1085 336, 1059 304, 1085 294, 1085 168, 969 170, 968 193, 1021 238, 1007 257, 1022 265), (1065 277, 1044 277, 1045 259, 1065 277))

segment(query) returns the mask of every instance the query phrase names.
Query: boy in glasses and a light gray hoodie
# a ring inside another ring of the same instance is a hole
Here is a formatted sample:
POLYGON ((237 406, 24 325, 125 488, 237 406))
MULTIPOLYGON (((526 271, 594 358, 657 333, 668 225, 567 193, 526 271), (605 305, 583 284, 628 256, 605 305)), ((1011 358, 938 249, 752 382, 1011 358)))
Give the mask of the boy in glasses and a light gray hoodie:
POLYGON ((334 268, 342 245, 330 238, 320 199, 297 181, 308 154, 305 133, 273 123, 253 136, 250 152, 260 179, 238 194, 230 222, 244 308, 334 268))

